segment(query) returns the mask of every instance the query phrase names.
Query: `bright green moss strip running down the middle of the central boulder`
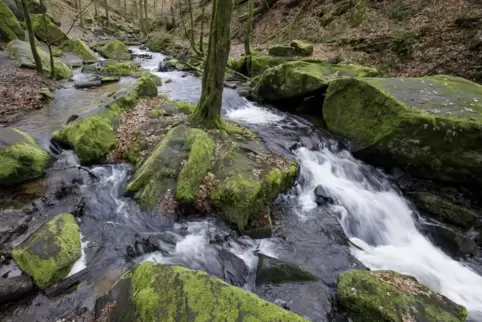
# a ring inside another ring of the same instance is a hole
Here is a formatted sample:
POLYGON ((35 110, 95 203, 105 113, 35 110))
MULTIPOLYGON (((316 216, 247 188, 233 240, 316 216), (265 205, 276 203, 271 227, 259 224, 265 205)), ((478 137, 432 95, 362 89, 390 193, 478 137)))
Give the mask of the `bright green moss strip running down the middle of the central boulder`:
POLYGON ((197 190, 211 168, 214 141, 202 130, 193 129, 186 140, 189 157, 177 179, 176 198, 184 204, 194 205, 197 190))

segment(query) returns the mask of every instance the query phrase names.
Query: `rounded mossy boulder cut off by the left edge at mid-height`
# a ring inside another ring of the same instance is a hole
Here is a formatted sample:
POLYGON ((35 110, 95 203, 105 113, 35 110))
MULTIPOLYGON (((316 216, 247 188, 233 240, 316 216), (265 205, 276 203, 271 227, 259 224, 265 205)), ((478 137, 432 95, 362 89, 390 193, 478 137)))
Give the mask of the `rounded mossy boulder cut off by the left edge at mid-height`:
POLYGON ((25 132, 0 127, 0 185, 43 175, 49 155, 25 132))

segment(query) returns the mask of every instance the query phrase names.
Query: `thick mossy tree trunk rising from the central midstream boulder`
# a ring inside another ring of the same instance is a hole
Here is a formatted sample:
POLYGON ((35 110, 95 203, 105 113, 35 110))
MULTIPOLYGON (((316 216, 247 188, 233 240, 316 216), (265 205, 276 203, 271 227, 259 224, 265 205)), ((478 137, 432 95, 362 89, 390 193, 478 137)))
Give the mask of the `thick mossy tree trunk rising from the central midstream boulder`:
POLYGON ((224 71, 231 48, 231 17, 233 0, 213 0, 209 48, 204 67, 202 93, 196 110, 191 116, 193 123, 210 128, 222 128, 221 104, 224 71))

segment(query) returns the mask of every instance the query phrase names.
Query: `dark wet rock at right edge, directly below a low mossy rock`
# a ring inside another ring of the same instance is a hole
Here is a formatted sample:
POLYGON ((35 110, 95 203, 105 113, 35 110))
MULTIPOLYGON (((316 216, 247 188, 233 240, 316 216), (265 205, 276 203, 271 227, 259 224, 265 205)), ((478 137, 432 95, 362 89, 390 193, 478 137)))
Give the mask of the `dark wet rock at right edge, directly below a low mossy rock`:
POLYGON ((463 234, 438 225, 426 225, 430 239, 452 257, 475 256, 477 244, 463 234))

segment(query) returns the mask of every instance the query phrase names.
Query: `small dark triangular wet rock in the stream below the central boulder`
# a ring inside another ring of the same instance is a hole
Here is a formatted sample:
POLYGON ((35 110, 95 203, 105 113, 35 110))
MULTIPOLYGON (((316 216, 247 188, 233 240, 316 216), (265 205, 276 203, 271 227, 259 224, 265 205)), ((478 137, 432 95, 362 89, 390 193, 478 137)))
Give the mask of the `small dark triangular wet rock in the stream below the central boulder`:
POLYGON ((258 254, 256 285, 293 282, 316 282, 318 278, 302 266, 258 254))

